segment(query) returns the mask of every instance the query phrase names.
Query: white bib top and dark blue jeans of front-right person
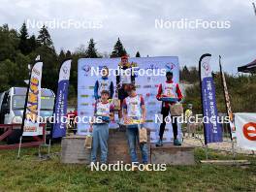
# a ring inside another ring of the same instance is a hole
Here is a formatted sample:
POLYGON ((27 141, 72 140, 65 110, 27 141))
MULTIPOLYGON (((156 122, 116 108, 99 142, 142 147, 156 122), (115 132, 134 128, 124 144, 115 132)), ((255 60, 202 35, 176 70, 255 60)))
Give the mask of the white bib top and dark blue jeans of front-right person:
MULTIPOLYGON (((136 95, 135 97, 126 97, 123 100, 122 108, 126 109, 127 116, 133 119, 141 119, 142 115, 142 106, 144 105, 144 98, 143 96, 136 95)), ((128 126, 126 128, 126 135, 128 138, 128 144, 130 148, 130 155, 132 162, 138 163, 138 157, 136 153, 136 143, 139 143, 139 130, 138 125, 128 126)), ((146 164, 147 159, 147 146, 146 144, 140 144, 140 148, 142 151, 143 163, 146 164)))

